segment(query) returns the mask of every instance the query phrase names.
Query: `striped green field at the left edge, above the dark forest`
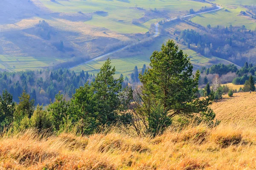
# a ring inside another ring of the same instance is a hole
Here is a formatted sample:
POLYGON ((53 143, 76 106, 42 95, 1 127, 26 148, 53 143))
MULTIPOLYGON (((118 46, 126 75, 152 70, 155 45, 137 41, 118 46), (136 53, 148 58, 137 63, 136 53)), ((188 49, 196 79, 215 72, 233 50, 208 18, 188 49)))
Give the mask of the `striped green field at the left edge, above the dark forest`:
POLYGON ((0 69, 7 71, 37 70, 56 62, 64 62, 55 57, 9 56, 0 54, 0 69))

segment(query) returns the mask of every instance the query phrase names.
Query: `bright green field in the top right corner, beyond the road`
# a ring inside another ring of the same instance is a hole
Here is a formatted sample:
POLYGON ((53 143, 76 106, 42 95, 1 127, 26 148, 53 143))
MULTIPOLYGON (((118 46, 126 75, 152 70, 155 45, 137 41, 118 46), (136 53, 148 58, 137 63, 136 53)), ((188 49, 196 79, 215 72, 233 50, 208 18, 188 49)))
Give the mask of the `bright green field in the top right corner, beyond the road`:
POLYGON ((249 20, 242 15, 241 11, 246 11, 240 5, 255 5, 255 0, 215 0, 214 3, 221 5, 224 9, 207 14, 197 15, 191 19, 192 22, 198 23, 202 26, 245 26, 247 29, 254 30, 256 28, 256 21, 249 20), (227 9, 228 11, 225 11, 227 9))

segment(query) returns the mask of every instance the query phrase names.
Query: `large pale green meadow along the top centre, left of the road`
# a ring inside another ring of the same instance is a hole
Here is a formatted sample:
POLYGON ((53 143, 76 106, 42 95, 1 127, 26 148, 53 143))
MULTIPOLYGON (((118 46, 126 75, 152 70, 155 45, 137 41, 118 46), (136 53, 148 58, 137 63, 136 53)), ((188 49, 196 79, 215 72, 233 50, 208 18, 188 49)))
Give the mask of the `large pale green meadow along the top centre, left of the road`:
POLYGON ((103 15, 94 14, 91 20, 84 23, 96 27, 108 28, 109 30, 118 33, 146 32, 151 23, 161 20, 153 19, 139 25, 132 24, 131 21, 133 19, 138 19, 144 16, 144 11, 134 9, 135 6, 144 9, 157 8, 157 10, 167 10, 170 12, 188 11, 190 8, 198 10, 202 6, 210 6, 208 3, 191 0, 56 0, 55 2, 42 0, 41 2, 44 6, 55 12, 108 12, 103 15))

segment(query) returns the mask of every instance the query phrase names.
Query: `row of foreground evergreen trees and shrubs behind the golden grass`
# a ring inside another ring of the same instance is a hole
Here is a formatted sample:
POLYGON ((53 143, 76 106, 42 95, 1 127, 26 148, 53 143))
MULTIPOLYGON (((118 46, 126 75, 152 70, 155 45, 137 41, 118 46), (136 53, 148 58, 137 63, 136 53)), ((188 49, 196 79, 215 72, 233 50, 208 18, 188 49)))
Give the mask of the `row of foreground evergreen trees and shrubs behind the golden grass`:
POLYGON ((215 114, 208 108, 212 96, 198 97, 200 72, 192 73, 189 58, 173 41, 169 40, 161 51, 154 51, 150 68, 139 74, 142 85, 123 87, 124 78, 114 79, 115 71, 108 59, 94 80, 76 88, 71 99, 59 92, 46 109, 35 107, 35 99, 26 91, 16 103, 12 94, 3 90, 1 128, 14 132, 33 128, 40 132, 76 126, 76 133, 86 135, 119 124, 133 127, 138 134, 155 136, 172 125, 174 118, 179 118, 181 124, 195 119, 214 125, 215 114))

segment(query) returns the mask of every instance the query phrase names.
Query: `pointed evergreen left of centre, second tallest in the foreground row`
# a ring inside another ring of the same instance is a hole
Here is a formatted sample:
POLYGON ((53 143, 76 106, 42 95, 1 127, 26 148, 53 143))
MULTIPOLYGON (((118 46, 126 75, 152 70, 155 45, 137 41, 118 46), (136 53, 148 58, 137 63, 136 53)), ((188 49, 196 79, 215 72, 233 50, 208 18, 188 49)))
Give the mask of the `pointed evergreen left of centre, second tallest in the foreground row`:
MULTIPOLYGON (((92 82, 93 101, 95 101, 94 114, 97 115, 96 122, 98 126, 111 125, 122 119, 119 112, 120 109, 127 105, 131 99, 132 92, 128 93, 128 97, 121 97, 124 90, 122 90, 123 77, 114 79, 115 67, 111 67, 110 59, 100 69, 95 81, 92 82), (123 101, 122 99, 125 99, 123 101)), ((123 113, 126 115, 126 113, 123 113)))

